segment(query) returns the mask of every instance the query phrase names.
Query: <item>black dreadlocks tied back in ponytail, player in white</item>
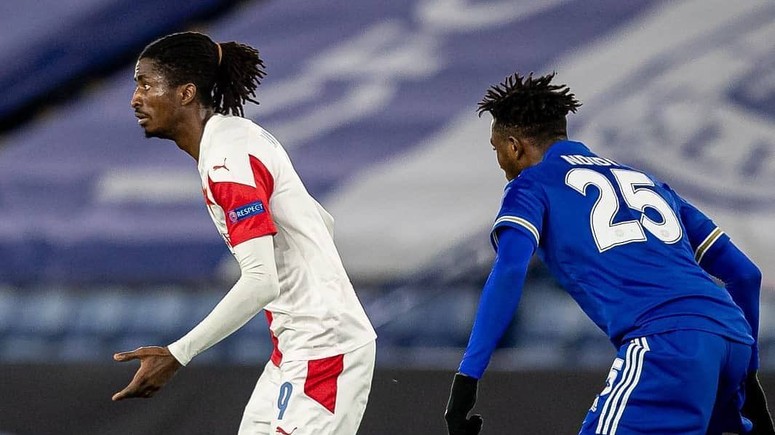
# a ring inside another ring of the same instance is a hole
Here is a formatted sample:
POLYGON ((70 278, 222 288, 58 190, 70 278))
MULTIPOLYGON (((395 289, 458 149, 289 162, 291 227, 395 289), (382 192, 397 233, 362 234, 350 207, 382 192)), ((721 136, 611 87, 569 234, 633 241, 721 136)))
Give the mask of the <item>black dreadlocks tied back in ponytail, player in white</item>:
POLYGON ((244 116, 266 76, 258 50, 237 42, 216 44, 198 32, 164 36, 148 44, 140 59, 153 60, 168 83, 193 83, 199 101, 217 113, 244 116))

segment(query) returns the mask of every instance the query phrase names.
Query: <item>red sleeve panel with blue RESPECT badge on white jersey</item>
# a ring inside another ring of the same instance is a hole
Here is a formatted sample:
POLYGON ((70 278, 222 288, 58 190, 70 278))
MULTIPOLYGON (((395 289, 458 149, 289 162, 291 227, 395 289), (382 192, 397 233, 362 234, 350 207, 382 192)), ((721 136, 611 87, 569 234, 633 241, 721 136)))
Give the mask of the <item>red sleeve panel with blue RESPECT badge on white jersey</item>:
POLYGON ((213 199, 226 215, 226 229, 231 246, 256 237, 277 234, 269 210, 274 178, 260 160, 254 156, 249 158, 256 187, 227 181, 216 183, 208 179, 213 199), (238 216, 238 213, 243 212, 246 213, 244 216, 238 216))

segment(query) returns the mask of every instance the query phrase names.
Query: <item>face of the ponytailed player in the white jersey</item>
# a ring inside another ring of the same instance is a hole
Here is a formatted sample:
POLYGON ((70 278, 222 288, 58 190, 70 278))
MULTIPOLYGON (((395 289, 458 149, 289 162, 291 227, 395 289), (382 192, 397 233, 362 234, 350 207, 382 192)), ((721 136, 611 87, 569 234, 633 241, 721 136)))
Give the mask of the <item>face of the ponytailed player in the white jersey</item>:
POLYGON ((154 61, 140 59, 135 65, 135 92, 131 105, 145 137, 172 139, 177 105, 176 87, 170 86, 154 61))

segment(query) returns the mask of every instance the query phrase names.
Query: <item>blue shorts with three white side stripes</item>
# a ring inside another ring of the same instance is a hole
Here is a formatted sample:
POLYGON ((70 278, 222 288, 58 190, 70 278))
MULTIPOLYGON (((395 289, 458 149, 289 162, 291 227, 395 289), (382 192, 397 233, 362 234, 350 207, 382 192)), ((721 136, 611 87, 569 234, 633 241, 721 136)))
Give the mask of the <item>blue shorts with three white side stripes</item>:
POLYGON ((751 346, 681 330, 622 345, 579 435, 744 434, 751 346))

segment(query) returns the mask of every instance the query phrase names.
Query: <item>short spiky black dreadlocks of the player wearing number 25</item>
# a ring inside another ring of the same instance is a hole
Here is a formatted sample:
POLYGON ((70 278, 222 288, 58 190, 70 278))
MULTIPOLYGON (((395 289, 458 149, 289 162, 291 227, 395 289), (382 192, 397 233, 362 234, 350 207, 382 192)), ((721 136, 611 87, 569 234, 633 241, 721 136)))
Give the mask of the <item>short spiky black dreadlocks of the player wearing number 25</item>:
POLYGON ((581 103, 567 85, 551 84, 557 73, 533 78, 515 73, 487 90, 477 112, 489 112, 496 125, 514 128, 521 135, 550 139, 567 135, 568 112, 576 112, 581 103))

